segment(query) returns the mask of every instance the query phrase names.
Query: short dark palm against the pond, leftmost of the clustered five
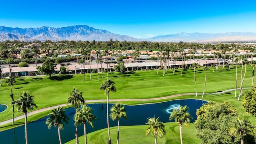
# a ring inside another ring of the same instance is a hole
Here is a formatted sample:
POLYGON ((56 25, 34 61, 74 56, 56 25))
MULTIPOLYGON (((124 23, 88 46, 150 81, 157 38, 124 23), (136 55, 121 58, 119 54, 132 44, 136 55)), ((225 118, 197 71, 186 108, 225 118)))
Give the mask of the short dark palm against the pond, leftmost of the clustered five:
POLYGON ((45 121, 45 124, 48 124, 48 128, 52 128, 52 126, 58 128, 58 136, 60 144, 60 130, 64 129, 64 122, 68 124, 68 116, 65 114, 65 110, 62 110, 63 107, 54 108, 50 114, 48 114, 48 118, 45 121))

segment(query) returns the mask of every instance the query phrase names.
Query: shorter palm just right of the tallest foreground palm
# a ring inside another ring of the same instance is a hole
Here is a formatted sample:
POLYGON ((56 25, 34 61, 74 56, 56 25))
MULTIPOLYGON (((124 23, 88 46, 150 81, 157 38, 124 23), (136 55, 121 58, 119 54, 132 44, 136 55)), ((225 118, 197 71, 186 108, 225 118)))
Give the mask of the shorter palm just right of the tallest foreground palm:
POLYGON ((110 108, 110 111, 111 111, 110 118, 112 120, 117 120, 117 140, 116 140, 116 144, 119 144, 119 121, 120 121, 120 118, 127 119, 126 109, 120 102, 118 102, 115 105, 113 105, 112 108, 110 108))

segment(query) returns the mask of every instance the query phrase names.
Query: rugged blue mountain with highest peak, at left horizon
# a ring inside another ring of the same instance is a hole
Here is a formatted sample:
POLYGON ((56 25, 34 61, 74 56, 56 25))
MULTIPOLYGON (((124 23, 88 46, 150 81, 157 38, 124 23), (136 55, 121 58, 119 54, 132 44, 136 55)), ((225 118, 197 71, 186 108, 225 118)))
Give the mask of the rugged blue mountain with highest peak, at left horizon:
POLYGON ((0 26, 0 42, 6 40, 34 41, 34 40, 82 40, 109 41, 110 38, 119 41, 140 41, 139 39, 120 34, 113 34, 107 30, 95 29, 86 25, 52 28, 10 28, 0 26))

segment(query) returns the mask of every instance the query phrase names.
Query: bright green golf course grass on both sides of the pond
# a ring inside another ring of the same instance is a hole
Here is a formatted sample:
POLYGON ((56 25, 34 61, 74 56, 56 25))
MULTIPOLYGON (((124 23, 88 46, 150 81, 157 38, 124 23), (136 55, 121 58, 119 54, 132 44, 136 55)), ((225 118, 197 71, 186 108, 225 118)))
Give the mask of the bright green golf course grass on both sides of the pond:
MULTIPOLYGON (((238 68, 238 87, 240 87, 240 70, 238 68)), ((231 67, 230 70, 225 68, 219 68, 218 72, 212 72, 212 68, 207 71, 207 83, 205 93, 212 93, 217 91, 223 91, 235 88, 235 67, 231 67)), ((194 70, 188 69, 185 74, 180 76, 180 70, 172 75, 172 70, 168 70, 165 76, 162 76, 162 70, 159 70, 159 74, 156 74, 156 70, 153 71, 136 71, 130 74, 119 74, 110 73, 109 77, 116 82, 116 93, 110 93, 110 99, 138 99, 138 98, 158 98, 163 96, 170 96, 174 94, 182 93, 194 93, 194 70)), ((204 87, 204 76, 205 73, 202 68, 196 69, 196 82, 197 82, 197 92, 202 93, 204 87)), ((84 91, 85 100, 97 100, 106 99, 104 91, 99 90, 100 85, 106 80, 106 73, 104 73, 104 78, 100 81, 97 80, 97 74, 92 74, 92 80, 90 80, 90 75, 86 74, 86 82, 83 81, 83 75, 56 75, 52 79, 49 76, 33 76, 33 77, 21 77, 16 78, 16 83, 13 86, 14 95, 17 93, 22 93, 24 90, 30 92, 34 95, 35 103, 38 108, 45 108, 48 106, 54 106, 58 104, 65 104, 68 97, 68 93, 77 87, 78 90, 84 91)), ((247 66, 246 77, 243 87, 250 87, 252 82, 252 68, 247 66)), ((12 118, 12 108, 10 106, 10 86, 7 86, 5 80, 2 80, 2 85, 0 87, 0 103, 8 105, 7 110, 0 113, 0 121, 8 120, 12 118)), ((243 92, 246 90, 243 90, 243 92)), ((14 98, 17 98, 16 95, 14 98)), ((216 95, 205 95, 201 98, 199 95, 187 95, 178 96, 174 98, 168 98, 165 100, 151 100, 151 101, 128 101, 122 102, 123 104, 145 104, 153 102, 163 102, 175 99, 184 98, 198 98, 208 101, 223 102, 229 101, 232 105, 236 106, 238 112, 241 116, 248 118, 252 124, 256 124, 255 119, 244 112, 241 105, 241 100, 238 101, 234 98, 234 91, 216 94, 216 95)), ((28 118, 29 122, 42 118, 49 113, 43 112, 40 114, 35 114, 28 118)), ((15 110, 15 116, 21 115, 22 112, 17 112, 15 110)), ((24 124, 24 120, 17 121, 16 125, 7 124, 2 126, 0 130, 5 130, 12 128, 14 126, 19 126, 24 124)), ((179 137, 179 126, 177 123, 165 123, 166 125, 166 136, 160 139, 158 138, 158 143, 168 144, 180 143, 179 137)), ((116 142, 116 127, 111 128, 112 142, 116 142)), ((121 126, 120 129, 120 142, 121 143, 154 143, 154 138, 152 136, 145 136, 145 130, 147 126, 121 126)), ((184 144, 190 143, 200 143, 200 140, 195 136, 195 130, 193 124, 188 128, 184 127, 183 130, 184 144)), ((80 141, 83 141, 83 136, 80 137, 80 141)), ((88 134, 88 143, 107 143, 108 134, 107 130, 98 130, 88 134)), ((71 142, 73 143, 73 142, 71 142)))

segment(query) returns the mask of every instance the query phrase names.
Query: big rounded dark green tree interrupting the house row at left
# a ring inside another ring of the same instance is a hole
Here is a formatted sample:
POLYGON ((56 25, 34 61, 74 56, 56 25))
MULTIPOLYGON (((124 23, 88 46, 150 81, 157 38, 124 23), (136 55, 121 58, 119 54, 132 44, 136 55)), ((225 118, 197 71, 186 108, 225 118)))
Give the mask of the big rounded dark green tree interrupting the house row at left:
POLYGON ((55 67, 56 67, 56 64, 54 64, 53 62, 44 61, 42 66, 37 66, 36 69, 38 70, 39 73, 42 72, 51 77, 53 72, 55 71, 54 70, 55 67))

